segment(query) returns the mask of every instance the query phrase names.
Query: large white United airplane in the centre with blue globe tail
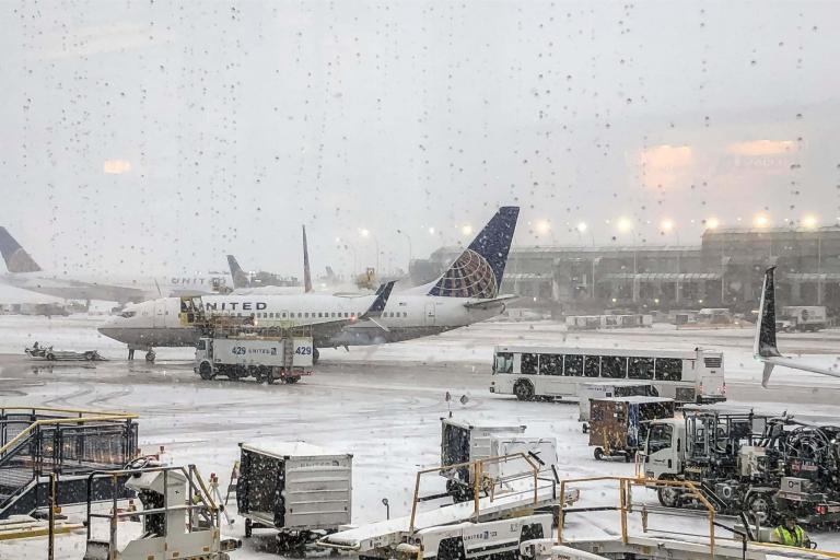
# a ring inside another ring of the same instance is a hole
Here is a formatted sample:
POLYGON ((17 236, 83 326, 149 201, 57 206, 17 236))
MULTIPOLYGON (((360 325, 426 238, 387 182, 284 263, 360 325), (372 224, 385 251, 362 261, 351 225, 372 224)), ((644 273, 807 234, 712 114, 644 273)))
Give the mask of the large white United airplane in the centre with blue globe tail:
MULTIPOLYGON (((439 279, 392 294, 376 318, 363 317, 375 294, 233 293, 202 296, 202 304, 211 314, 250 315, 258 324, 312 325, 316 361, 318 347, 380 345, 444 332, 499 315, 504 312, 505 301, 515 298, 500 295, 499 287, 518 213, 517 207, 499 209, 439 279), (349 323, 338 331, 320 326, 334 319, 349 323)), ((176 298, 129 305, 98 330, 127 343, 129 355, 133 350, 148 350, 147 359, 151 361, 155 347, 196 343, 197 331, 178 320, 179 305, 176 298)))

